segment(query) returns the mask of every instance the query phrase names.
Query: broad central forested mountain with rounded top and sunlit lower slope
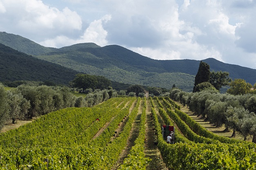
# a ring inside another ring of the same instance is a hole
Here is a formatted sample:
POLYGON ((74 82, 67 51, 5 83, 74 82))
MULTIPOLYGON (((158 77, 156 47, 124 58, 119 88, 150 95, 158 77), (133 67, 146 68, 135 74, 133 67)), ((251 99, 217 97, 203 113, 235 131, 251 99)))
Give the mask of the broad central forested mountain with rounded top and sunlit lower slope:
POLYGON ((126 84, 141 84, 167 89, 175 84, 186 91, 190 91, 194 84, 194 76, 167 72, 157 60, 143 57, 120 46, 80 48, 35 57, 79 72, 105 76, 112 81, 126 84))

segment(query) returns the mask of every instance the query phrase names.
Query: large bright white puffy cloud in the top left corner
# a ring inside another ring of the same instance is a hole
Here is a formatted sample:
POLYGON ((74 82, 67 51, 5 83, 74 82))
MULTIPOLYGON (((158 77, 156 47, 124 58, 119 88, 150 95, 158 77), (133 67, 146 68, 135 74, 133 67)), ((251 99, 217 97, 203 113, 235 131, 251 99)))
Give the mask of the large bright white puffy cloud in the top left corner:
POLYGON ((6 29, 10 30, 16 27, 19 33, 30 34, 35 40, 37 36, 50 37, 82 28, 80 16, 67 7, 60 11, 41 0, 2 0, 2 5, 6 12, 0 19, 1 24, 6 24, 6 29))

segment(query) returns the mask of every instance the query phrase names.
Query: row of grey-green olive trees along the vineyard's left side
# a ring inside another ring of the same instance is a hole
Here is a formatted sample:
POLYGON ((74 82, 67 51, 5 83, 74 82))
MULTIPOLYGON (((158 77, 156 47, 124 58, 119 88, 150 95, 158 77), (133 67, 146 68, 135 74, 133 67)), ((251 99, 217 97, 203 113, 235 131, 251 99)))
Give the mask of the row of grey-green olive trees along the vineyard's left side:
POLYGON ((19 85, 6 90, 0 84, 0 129, 10 120, 15 123, 67 107, 93 107, 118 95, 113 89, 87 91, 85 97, 77 97, 69 87, 19 85))

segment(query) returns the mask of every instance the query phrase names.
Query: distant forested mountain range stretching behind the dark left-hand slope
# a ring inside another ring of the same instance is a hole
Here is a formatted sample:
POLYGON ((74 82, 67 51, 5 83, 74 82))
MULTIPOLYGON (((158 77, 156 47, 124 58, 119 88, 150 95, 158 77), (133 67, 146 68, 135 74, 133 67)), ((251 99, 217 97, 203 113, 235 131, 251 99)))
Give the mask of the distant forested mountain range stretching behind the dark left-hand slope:
MULTIPOLYGON (((65 74, 66 77, 69 77, 62 80, 62 83, 65 82, 66 84, 73 79, 75 74, 82 72, 105 76, 111 81, 119 83, 167 89, 171 89, 175 84, 180 89, 192 91, 194 78, 200 63, 200 61, 190 59, 155 60, 117 45, 100 47, 94 43, 81 43, 62 48, 49 48, 19 35, 5 32, 0 32, 0 43, 18 50, 22 54, 27 54, 29 60, 37 59, 34 62, 38 62, 40 65, 44 65, 42 62, 54 63, 54 67, 67 69, 67 72, 72 75, 64 71, 58 73, 58 76, 65 74)), ((8 58, 5 57, 7 62, 8 58)), ((210 65, 210 70, 229 72, 232 79, 242 78, 252 85, 256 82, 255 69, 223 63, 213 58, 202 61, 210 65)), ((36 63, 33 65, 36 65, 36 63)), ((45 68, 47 67, 49 66, 45 66, 45 68)), ((33 69, 36 71, 37 68, 33 69)), ((1 70, 0 81, 2 80, 1 70)), ((21 71, 27 72, 28 70, 22 68, 21 71)), ((41 71, 38 70, 38 72, 41 71)), ((5 72, 8 73, 9 71, 5 70, 5 72)), ((54 71, 51 70, 50 72, 53 74, 54 71)), ((51 77, 51 74, 49 74, 49 77, 51 77)), ((47 79, 47 77, 44 78, 47 79)), ((14 79, 17 79, 17 77, 13 76, 11 80, 14 79)))

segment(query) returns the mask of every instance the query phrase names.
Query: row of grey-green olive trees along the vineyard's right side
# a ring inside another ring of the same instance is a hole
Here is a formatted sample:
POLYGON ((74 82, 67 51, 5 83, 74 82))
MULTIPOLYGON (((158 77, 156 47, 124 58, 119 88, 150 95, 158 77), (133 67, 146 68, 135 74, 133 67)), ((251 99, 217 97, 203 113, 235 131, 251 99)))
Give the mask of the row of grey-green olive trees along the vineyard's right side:
POLYGON ((183 92, 172 89, 170 98, 187 105, 190 111, 208 120, 216 127, 225 126, 225 131, 233 130, 243 135, 246 140, 248 135, 253 135, 256 143, 256 96, 255 94, 220 94, 213 89, 200 92, 183 92))

